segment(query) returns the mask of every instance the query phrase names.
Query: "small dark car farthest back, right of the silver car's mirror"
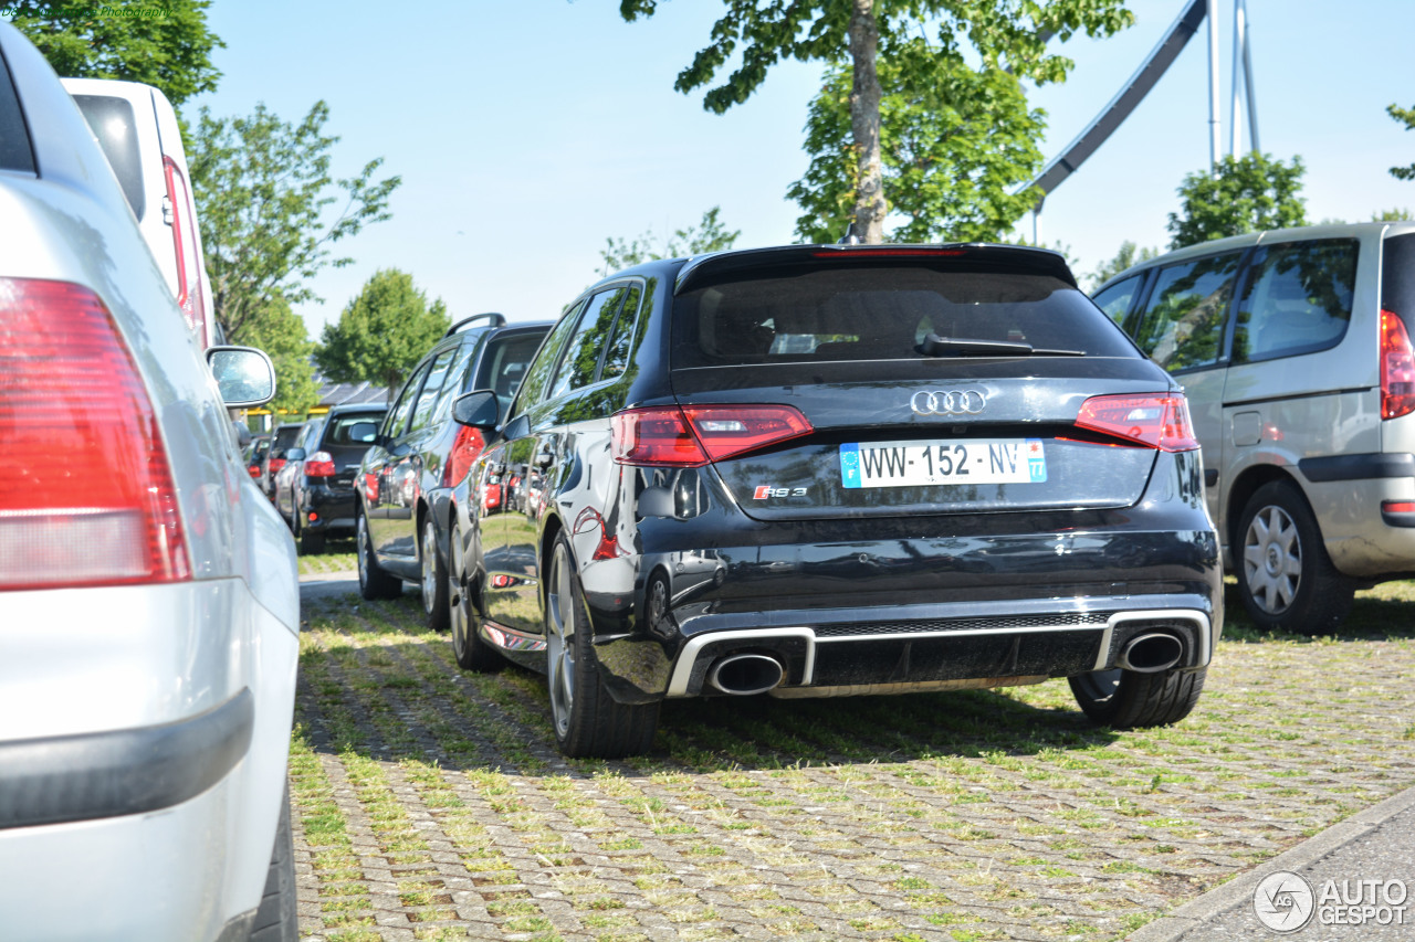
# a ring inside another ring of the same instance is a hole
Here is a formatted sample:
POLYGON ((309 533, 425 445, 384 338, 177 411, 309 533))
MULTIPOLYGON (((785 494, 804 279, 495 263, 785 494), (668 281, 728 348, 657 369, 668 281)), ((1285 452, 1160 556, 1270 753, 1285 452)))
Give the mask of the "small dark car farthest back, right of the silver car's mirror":
POLYGON ((301 553, 321 553, 325 539, 354 536, 354 479, 386 413, 388 406, 378 405, 334 406, 311 419, 286 453, 277 479, 287 485, 276 491, 276 505, 301 553))

